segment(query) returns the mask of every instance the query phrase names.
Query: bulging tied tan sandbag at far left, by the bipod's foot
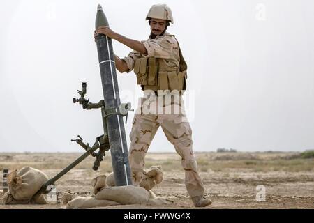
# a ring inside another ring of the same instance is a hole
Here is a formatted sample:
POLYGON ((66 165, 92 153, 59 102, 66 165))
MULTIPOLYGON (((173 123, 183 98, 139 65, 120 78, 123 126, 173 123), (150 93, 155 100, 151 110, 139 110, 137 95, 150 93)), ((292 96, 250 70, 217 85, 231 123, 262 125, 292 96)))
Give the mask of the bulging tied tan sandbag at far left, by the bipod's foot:
POLYGON ((23 167, 19 171, 10 172, 6 178, 9 187, 6 204, 47 203, 44 194, 37 194, 33 197, 48 180, 47 175, 43 171, 31 167, 23 167))

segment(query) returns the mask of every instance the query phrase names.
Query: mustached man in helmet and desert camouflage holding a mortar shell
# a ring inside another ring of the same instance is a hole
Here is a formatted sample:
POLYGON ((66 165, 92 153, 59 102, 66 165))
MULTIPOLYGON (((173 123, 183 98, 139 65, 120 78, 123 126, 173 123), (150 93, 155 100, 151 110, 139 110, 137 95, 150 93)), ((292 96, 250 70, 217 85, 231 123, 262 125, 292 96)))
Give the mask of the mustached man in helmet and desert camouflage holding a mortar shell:
POLYGON ((133 184, 139 185, 145 174, 144 157, 158 127, 161 126, 167 139, 181 156, 186 189, 194 205, 208 206, 211 200, 204 197, 204 185, 197 173, 192 149, 192 130, 181 98, 182 90, 186 89, 187 66, 176 38, 166 33, 170 22, 173 24, 172 12, 167 5, 157 4, 151 6, 146 20, 149 20, 151 34, 144 41, 121 36, 107 26, 100 26, 95 31, 95 35, 104 34, 134 50, 123 59, 115 56, 119 72, 130 72, 134 69, 137 84, 144 91, 130 132, 129 160, 133 184), (179 109, 176 109, 177 106, 179 109))

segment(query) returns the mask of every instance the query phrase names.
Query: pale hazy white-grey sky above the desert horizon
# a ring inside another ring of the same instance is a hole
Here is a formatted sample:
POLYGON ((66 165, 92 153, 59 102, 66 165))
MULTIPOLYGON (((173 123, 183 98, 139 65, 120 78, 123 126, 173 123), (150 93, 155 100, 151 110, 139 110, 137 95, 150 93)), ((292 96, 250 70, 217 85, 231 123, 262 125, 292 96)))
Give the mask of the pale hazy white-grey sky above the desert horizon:
MULTIPOLYGON (((94 21, 101 3, 114 31, 144 40, 153 3, 172 8, 188 63, 186 107, 195 151, 314 148, 314 1, 1 1, 0 151, 83 152, 100 110, 74 105, 87 82, 102 99, 94 21)), ((130 49, 114 41, 114 52, 130 49)), ((117 72, 121 102, 141 95, 133 72, 117 72)), ((130 133, 130 113, 126 134, 130 133)), ((128 145, 130 141, 128 139, 128 145)), ((158 130, 149 151, 174 151, 158 130)))

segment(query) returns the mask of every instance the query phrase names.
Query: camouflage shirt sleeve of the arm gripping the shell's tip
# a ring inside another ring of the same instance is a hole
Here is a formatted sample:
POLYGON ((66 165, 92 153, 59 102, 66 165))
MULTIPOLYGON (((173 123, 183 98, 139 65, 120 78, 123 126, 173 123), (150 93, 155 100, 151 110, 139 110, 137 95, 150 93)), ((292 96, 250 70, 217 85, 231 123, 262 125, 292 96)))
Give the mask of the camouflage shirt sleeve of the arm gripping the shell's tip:
POLYGON ((178 49, 177 40, 172 36, 142 41, 147 49, 147 57, 170 59, 173 49, 178 49))

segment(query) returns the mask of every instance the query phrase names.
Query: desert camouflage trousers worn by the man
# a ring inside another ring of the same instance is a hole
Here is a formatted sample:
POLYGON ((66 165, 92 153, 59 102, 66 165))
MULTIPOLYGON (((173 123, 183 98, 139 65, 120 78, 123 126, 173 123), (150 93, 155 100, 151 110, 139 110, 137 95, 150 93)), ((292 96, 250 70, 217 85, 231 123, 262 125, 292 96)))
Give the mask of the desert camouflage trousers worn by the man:
POLYGON ((174 111, 176 102, 158 101, 160 96, 142 98, 140 106, 133 118, 133 127, 130 132, 129 161, 132 171, 133 184, 139 185, 144 174, 144 158, 149 145, 153 140, 159 126, 165 132, 168 141, 173 144, 181 156, 181 165, 185 171, 185 184, 190 197, 204 195, 204 185, 197 172, 197 162, 192 148, 192 130, 186 119, 183 100, 180 98, 179 112, 174 111), (149 111, 147 105, 150 105, 149 111), (165 113, 166 107, 172 108, 172 114, 165 113), (163 112, 156 112, 156 110, 163 112))

